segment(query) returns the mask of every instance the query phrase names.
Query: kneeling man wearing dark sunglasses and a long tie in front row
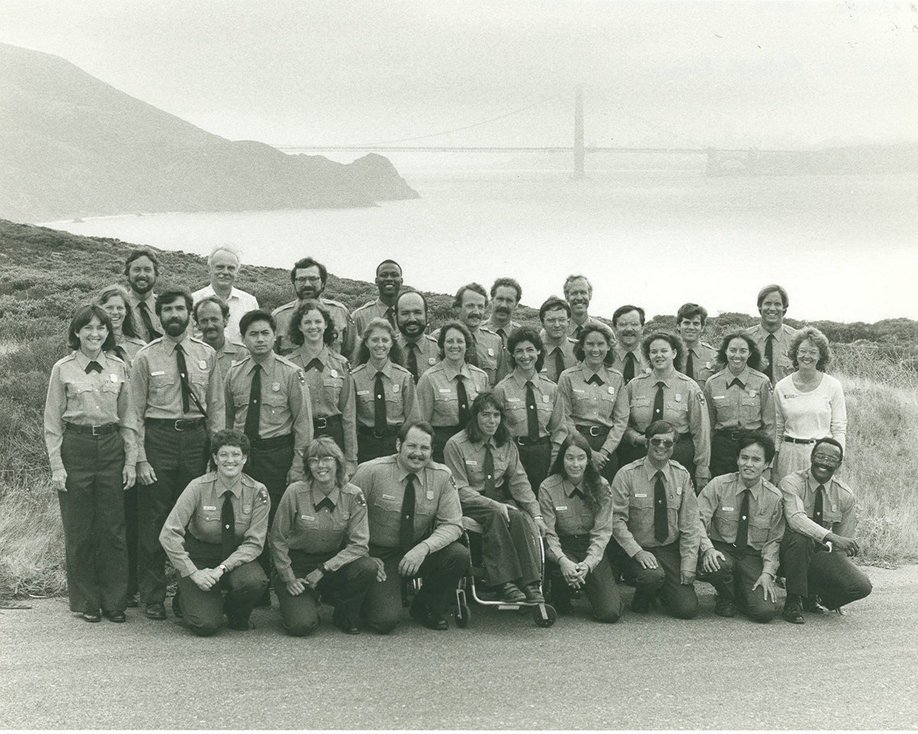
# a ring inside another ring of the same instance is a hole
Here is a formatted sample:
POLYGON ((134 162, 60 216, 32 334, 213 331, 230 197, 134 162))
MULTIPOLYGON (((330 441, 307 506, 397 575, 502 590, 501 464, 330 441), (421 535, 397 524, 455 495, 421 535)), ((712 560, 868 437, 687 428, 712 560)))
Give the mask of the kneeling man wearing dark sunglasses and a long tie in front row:
POLYGON ((688 470, 672 461, 676 428, 656 420, 644 431, 647 455, 612 481, 612 537, 617 566, 635 581, 632 611, 646 614, 655 598, 673 617, 698 614, 695 574, 701 525, 688 470))

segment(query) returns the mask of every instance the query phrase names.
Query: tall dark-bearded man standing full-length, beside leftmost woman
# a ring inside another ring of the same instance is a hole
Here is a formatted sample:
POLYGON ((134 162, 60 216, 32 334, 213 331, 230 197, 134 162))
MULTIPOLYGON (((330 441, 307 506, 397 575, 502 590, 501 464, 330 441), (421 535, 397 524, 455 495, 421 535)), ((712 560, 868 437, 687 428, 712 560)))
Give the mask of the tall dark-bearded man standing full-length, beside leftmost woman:
POLYGON ((162 524, 185 486, 205 473, 209 436, 226 420, 217 354, 189 334, 191 307, 185 290, 160 295, 156 315, 165 335, 137 353, 130 371, 140 434, 140 600, 151 619, 166 618, 162 524))

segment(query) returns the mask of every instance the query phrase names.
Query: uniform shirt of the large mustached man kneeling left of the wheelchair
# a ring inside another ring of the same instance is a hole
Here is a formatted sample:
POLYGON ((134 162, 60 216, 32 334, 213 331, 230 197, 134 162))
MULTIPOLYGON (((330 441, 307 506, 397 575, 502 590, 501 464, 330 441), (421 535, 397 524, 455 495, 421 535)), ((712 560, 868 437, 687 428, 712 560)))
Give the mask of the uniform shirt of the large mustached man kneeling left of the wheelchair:
MULTIPOLYGON (((351 481, 366 496, 370 515, 370 542, 382 548, 398 547, 402 500, 408 470, 397 456, 362 463, 351 481)), ((428 462, 414 483, 414 541, 423 541, 431 553, 441 551, 462 535, 462 508, 450 470, 428 462)))

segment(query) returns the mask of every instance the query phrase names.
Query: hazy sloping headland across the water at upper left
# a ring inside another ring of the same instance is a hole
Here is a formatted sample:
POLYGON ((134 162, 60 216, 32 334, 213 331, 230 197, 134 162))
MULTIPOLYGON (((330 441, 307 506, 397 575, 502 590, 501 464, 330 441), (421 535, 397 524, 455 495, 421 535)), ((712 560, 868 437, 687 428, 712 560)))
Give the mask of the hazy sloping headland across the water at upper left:
POLYGON ((380 155, 345 165, 196 128, 69 61, 0 44, 0 217, 373 206, 418 194, 380 155))

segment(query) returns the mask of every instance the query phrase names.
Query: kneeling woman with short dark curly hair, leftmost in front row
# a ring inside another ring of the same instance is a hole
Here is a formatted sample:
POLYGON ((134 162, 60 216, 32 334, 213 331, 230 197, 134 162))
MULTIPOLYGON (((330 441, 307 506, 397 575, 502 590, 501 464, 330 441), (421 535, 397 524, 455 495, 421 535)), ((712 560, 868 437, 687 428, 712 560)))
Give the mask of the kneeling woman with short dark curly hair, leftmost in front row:
POLYGON ((249 439, 237 430, 219 430, 210 451, 211 471, 185 487, 160 533, 179 573, 183 617, 200 637, 218 631, 224 611, 230 628, 248 629, 252 607, 268 587, 258 556, 271 498, 264 484, 242 473, 249 439))

